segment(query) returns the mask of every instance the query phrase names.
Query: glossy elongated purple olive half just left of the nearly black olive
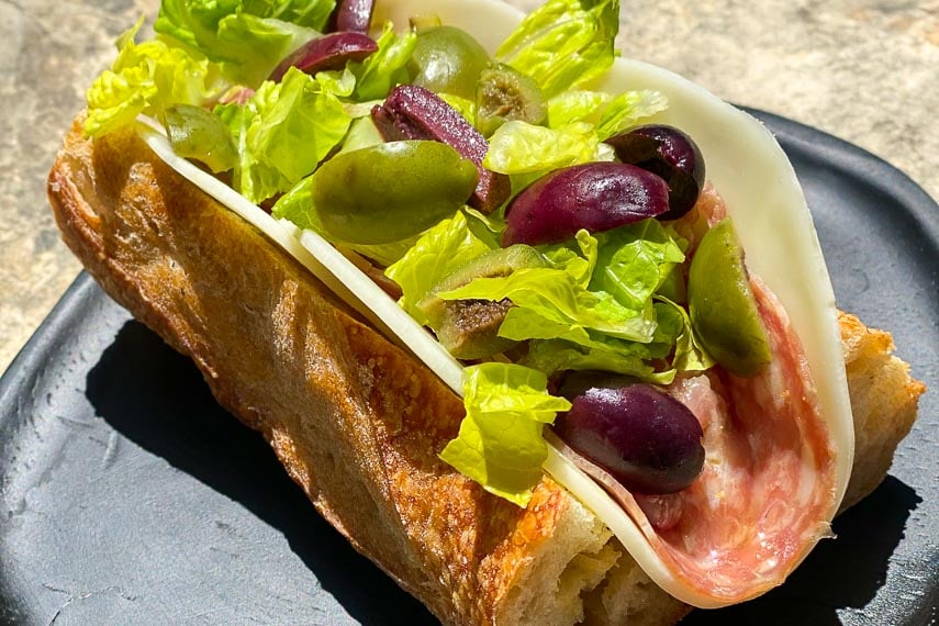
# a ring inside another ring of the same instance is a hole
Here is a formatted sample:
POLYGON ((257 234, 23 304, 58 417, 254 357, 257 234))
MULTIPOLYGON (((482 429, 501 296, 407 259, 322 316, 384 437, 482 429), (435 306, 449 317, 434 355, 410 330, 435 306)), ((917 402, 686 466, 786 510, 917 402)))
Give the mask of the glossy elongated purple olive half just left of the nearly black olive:
POLYGON ((539 178, 512 200, 502 245, 563 242, 581 228, 599 233, 668 210, 668 185, 655 174, 622 163, 577 165, 539 178))

